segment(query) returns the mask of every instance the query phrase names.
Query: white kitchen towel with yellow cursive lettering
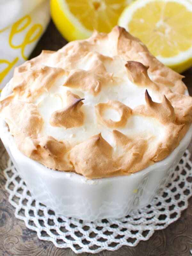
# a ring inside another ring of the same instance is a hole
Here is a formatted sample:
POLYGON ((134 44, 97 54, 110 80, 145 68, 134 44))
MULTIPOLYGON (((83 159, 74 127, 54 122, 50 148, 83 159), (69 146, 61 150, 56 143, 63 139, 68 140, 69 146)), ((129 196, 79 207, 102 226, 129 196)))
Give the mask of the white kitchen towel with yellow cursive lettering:
POLYGON ((0 90, 28 59, 49 20, 49 0, 0 0, 0 90))

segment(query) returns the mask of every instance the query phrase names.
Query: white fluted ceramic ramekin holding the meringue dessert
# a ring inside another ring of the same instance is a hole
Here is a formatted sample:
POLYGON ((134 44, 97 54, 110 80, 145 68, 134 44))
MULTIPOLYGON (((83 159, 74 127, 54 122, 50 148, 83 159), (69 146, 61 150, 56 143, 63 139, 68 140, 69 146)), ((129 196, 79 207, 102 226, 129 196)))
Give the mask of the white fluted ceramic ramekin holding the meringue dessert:
MULTIPOLYGON (((10 94, 9 84, 2 98, 10 94)), ((14 143, 8 126, 0 118, 0 137, 31 194, 57 214, 82 220, 121 218, 148 205, 170 180, 188 147, 192 125, 170 156, 128 176, 87 180, 72 172, 49 169, 24 156, 14 143)))

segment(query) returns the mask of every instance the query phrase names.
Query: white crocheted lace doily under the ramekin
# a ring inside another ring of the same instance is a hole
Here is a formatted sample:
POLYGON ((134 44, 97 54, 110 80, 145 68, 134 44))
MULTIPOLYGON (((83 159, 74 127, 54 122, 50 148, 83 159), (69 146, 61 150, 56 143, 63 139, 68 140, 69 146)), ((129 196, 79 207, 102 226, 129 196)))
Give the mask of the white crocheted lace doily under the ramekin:
POLYGON ((31 196, 11 160, 4 170, 9 202, 15 216, 37 232, 39 239, 52 241, 56 247, 71 248, 76 253, 114 251, 122 245, 135 246, 148 240, 157 229, 166 228, 180 217, 192 195, 192 163, 188 150, 182 156, 171 183, 147 207, 134 210, 121 219, 95 222, 55 214, 31 196))

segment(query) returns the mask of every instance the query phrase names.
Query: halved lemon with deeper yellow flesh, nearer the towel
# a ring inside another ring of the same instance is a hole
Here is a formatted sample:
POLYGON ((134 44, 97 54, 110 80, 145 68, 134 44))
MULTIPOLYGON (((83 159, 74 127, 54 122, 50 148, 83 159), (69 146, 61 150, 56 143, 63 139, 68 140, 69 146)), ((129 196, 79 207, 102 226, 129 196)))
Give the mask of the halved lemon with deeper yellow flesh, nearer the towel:
POLYGON ((52 19, 68 40, 84 39, 94 29, 108 33, 132 0, 51 0, 52 19))

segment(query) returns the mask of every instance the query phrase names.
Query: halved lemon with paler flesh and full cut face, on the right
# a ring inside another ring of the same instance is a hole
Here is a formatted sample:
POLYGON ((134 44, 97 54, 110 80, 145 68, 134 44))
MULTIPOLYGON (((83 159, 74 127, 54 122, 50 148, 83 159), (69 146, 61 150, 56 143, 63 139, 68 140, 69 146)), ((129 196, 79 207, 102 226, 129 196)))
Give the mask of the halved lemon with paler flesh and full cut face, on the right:
POLYGON ((192 1, 137 0, 124 9, 118 25, 175 71, 192 65, 192 1))

